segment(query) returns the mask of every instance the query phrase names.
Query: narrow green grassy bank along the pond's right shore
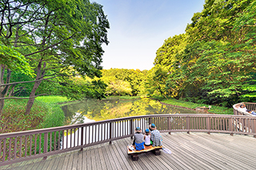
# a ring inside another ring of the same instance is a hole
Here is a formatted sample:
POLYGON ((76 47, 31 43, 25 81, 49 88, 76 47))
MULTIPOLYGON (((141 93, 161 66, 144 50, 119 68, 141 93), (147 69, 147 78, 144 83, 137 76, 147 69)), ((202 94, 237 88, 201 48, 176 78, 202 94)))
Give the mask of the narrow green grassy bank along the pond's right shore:
MULTIPOLYGON (((208 105, 205 105, 205 104, 191 103, 191 102, 188 102, 188 101, 179 101, 179 100, 176 100, 174 98, 170 98, 168 100, 160 98, 159 100, 162 101, 163 103, 166 103, 166 104, 178 105, 178 106, 182 106, 182 107, 186 107, 186 108, 190 108, 190 109, 196 109, 197 107, 203 107, 203 106, 208 107, 208 105)), ((233 114, 233 109, 232 108, 226 108, 226 107, 211 105, 211 109, 209 110, 209 113, 214 113, 214 114, 233 114)))

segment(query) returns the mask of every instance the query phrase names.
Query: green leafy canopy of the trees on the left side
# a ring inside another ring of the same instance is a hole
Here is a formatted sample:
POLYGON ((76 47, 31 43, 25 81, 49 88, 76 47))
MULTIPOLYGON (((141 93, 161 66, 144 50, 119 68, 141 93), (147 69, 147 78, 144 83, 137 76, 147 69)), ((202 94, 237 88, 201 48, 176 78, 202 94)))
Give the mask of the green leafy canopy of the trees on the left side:
MULTIPOLYGON (((0 8, 1 20, 5 21, 0 23, 0 77, 4 74, 2 66, 7 66, 9 73, 19 70, 30 78, 34 76, 33 70, 36 77, 32 78, 37 82, 32 89, 26 85, 15 86, 30 89, 31 97, 40 93, 62 93, 76 99, 104 97, 106 85, 101 81, 77 85, 70 78, 101 77, 102 44, 109 43, 107 29, 110 28, 101 5, 87 0, 15 3, 7 0, 0 3, 0 8), (45 79, 48 82, 42 82, 45 79), (38 89, 41 83, 43 87, 38 89)), ((10 77, 10 82, 19 82, 10 77)), ((3 97, 6 89, 7 85, 0 89, 3 97)), ((33 102, 34 98, 30 98, 26 114, 30 113, 33 102)))

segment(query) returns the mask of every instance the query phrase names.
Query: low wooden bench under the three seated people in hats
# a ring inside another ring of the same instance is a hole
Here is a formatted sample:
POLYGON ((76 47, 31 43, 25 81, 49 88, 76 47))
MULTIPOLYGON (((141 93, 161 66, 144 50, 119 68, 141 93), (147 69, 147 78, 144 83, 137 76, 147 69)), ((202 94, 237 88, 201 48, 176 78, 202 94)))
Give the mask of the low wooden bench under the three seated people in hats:
POLYGON ((133 151, 131 151, 129 149, 129 146, 127 146, 127 153, 128 155, 131 156, 131 159, 136 161, 138 160, 138 155, 143 153, 143 152, 154 152, 154 155, 158 156, 158 155, 161 155, 161 152, 160 152, 160 149, 162 149, 162 146, 155 146, 153 147, 152 145, 150 146, 145 146, 144 145, 144 149, 140 150, 140 151, 136 151, 135 149, 133 151))

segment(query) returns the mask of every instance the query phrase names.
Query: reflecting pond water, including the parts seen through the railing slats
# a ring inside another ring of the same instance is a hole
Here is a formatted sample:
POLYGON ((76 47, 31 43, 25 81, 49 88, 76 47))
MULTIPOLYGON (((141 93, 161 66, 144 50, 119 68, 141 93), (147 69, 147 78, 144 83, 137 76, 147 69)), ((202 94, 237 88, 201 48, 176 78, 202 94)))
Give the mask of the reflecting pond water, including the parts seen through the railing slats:
MULTIPOLYGON (((96 99, 86 99, 84 101, 79 101, 70 105, 64 105, 62 106, 62 109, 66 114, 67 125, 82 124, 92 121, 103 121, 119 117, 134 117, 151 114, 196 113, 193 110, 162 105, 159 101, 154 101, 148 98, 142 98, 138 100, 105 99, 102 101, 98 101, 96 99)), ((122 133, 122 127, 124 126, 123 124, 128 125, 128 128, 126 129, 128 132, 130 129, 130 123, 128 122, 119 122, 116 124, 118 127, 120 127, 119 132, 122 133)), ((140 125, 139 120, 138 125, 140 125)), ((91 128, 86 128, 83 144, 90 144, 98 140, 104 140, 105 138, 109 139, 110 132, 108 129, 110 129, 110 125, 106 125, 106 127, 101 126, 100 128, 98 125, 94 125, 91 128), (91 135, 94 132, 93 128, 99 129, 95 137, 91 135), (102 134, 104 135, 102 136, 102 134)), ((76 146, 76 144, 74 144, 75 136, 78 144, 80 144, 81 139, 78 139, 78 132, 80 131, 81 128, 78 128, 75 131, 73 130, 72 132, 68 132, 68 135, 65 133, 63 136, 64 142, 61 142, 61 147, 70 148, 76 146)), ((114 132, 117 131, 115 130, 114 132)))

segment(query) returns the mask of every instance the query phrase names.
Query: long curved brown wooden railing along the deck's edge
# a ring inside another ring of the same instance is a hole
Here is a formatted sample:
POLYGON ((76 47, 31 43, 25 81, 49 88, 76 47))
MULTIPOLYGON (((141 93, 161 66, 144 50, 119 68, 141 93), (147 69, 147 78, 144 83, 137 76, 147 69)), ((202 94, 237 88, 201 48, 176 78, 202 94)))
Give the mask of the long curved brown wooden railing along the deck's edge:
POLYGON ((256 117, 168 114, 125 117, 81 125, 0 134, 0 166, 69 152, 143 132, 154 123, 160 132, 225 132, 256 136, 256 117))

